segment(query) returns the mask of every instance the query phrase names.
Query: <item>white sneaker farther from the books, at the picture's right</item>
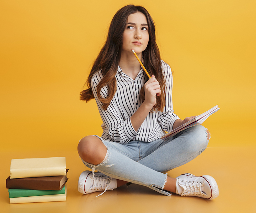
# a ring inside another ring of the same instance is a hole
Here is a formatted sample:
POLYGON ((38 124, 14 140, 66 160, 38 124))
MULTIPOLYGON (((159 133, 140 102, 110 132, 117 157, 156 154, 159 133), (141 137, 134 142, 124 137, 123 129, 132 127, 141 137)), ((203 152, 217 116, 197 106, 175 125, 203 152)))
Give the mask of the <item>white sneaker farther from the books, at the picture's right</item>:
POLYGON ((219 196, 217 182, 209 175, 194 176, 185 173, 177 177, 176 194, 213 200, 219 196))

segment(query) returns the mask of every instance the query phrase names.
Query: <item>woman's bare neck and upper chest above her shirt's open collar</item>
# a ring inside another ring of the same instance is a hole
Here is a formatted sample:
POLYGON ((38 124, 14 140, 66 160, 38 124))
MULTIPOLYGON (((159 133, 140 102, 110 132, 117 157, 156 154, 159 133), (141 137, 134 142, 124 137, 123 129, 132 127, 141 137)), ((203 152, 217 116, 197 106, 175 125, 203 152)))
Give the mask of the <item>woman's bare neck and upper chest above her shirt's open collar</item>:
MULTIPOLYGON (((139 59, 142 60, 142 53, 137 54, 139 59)), ((119 66, 122 72, 130 76, 133 80, 137 77, 141 67, 140 63, 131 52, 122 51, 119 66)))

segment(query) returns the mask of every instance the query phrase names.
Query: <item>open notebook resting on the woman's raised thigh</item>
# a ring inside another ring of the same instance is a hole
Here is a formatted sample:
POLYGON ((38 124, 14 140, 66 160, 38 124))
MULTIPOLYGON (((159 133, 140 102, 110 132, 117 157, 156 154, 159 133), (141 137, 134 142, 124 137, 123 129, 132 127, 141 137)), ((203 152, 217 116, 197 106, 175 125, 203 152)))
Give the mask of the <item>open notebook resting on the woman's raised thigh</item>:
POLYGON ((168 138, 175 136, 177 133, 179 133, 182 130, 185 130, 185 129, 191 127, 191 126, 196 126, 198 124, 202 124, 210 115, 212 115, 213 113, 216 113, 219 109, 220 108, 218 107, 218 105, 216 105, 215 107, 213 107, 212 109, 209 109, 205 113, 196 116, 192 120, 190 120, 190 121, 186 122, 185 124, 177 127, 176 129, 172 130, 171 132, 168 132, 167 134, 162 136, 161 139, 167 140, 168 138))

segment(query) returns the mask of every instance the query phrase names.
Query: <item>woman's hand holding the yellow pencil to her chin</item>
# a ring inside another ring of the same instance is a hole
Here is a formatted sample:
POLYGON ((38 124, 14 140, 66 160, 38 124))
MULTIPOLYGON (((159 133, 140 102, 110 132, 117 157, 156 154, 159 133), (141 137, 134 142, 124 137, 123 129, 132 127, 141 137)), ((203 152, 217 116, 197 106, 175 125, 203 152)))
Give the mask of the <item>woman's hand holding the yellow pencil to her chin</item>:
POLYGON ((152 75, 151 78, 144 84, 145 88, 145 100, 144 104, 147 104, 151 108, 156 104, 156 95, 161 95, 161 88, 158 81, 155 78, 155 75, 152 75))

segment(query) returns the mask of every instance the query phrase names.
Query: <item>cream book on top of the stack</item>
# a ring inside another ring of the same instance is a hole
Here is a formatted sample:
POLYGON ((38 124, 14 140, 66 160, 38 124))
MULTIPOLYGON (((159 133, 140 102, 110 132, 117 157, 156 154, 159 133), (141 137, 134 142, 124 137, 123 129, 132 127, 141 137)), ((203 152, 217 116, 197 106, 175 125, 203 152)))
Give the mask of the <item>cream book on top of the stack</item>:
POLYGON ((65 157, 23 158, 11 160, 10 179, 65 175, 65 157))

